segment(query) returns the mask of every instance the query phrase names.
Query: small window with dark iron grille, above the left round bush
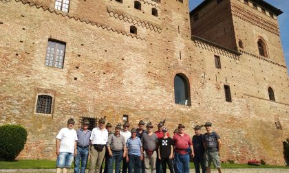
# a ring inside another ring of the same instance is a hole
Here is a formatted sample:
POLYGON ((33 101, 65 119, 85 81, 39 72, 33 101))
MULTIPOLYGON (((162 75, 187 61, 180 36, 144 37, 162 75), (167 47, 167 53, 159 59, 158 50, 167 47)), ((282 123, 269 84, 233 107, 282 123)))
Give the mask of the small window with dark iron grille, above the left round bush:
POLYGON ((51 114, 52 96, 38 95, 36 104, 36 113, 51 114))

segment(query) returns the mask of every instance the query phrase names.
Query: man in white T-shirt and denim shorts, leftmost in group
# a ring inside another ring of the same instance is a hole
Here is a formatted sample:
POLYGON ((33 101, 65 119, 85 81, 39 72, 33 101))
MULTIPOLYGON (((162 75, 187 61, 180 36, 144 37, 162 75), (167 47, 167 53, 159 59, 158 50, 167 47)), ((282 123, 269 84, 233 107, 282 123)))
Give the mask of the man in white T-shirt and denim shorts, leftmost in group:
POLYGON ((70 168, 74 156, 77 154, 76 141, 77 135, 74 127, 74 119, 70 118, 67 121, 67 127, 61 128, 56 136, 56 173, 67 172, 67 168, 70 168))

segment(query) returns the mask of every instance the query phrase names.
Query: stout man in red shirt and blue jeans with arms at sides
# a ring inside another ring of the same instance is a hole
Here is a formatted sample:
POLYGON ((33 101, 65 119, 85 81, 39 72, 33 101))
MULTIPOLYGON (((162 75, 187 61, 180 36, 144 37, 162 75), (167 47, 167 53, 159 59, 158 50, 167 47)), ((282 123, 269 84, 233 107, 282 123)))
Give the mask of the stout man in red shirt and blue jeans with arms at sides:
POLYGON ((184 132, 184 125, 179 124, 178 130, 179 132, 173 135, 177 172, 189 173, 190 156, 188 149, 191 148, 191 157, 194 157, 193 143, 191 137, 189 137, 189 135, 184 132))

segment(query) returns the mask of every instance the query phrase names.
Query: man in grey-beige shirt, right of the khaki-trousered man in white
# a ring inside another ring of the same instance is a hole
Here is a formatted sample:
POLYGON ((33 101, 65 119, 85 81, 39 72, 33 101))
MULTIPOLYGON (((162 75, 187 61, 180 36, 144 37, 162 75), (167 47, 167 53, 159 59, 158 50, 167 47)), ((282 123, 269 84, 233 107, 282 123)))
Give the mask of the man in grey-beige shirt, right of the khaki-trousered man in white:
POLYGON ((107 172, 112 173, 114 169, 114 161, 116 162, 116 172, 120 172, 120 165, 122 161, 122 157, 125 158, 127 153, 127 147, 125 143, 125 137, 120 135, 121 125, 118 124, 116 128, 114 128, 114 134, 109 135, 107 139, 107 150, 109 153, 109 160, 107 172), (124 151, 124 152, 122 152, 124 151))

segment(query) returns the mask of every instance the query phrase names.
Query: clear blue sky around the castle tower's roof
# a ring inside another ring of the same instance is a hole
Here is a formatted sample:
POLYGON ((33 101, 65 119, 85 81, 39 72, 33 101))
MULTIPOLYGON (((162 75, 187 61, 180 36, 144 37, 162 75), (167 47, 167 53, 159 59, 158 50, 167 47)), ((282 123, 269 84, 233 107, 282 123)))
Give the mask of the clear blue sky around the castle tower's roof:
MULTIPOLYGON (((190 11, 193 10, 197 5, 199 5, 203 0, 189 0, 190 11)), ((278 16, 279 27, 281 32, 281 43, 283 47, 283 54, 285 56, 285 61, 287 67, 289 67, 289 1, 288 0, 266 0, 266 2, 281 9, 283 14, 278 16), (287 27, 286 27, 287 26, 287 27)), ((288 69, 289 73, 289 69, 288 69)))

